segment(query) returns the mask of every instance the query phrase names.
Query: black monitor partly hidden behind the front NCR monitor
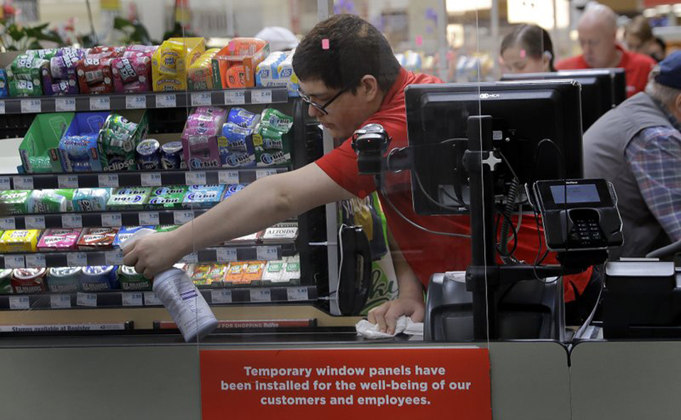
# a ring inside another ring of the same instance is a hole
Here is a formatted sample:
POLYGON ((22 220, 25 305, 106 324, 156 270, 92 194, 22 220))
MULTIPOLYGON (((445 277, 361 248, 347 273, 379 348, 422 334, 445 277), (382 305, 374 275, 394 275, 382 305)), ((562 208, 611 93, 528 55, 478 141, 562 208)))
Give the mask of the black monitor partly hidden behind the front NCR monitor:
POLYGON ((504 74, 502 80, 571 79, 582 85, 582 129, 626 99, 624 69, 560 70, 553 73, 504 74))

